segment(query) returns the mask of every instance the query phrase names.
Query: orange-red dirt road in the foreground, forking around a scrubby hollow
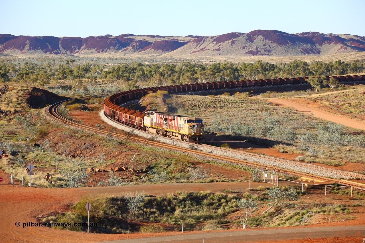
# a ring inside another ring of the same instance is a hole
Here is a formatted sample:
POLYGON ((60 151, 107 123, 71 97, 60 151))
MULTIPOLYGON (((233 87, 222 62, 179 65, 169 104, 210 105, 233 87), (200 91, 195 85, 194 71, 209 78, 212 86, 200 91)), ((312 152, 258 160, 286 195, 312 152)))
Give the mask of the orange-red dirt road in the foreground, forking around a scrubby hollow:
MULTIPOLYGON (((251 183, 252 187, 257 187, 262 183, 251 183)), ((268 184, 265 184, 267 186, 268 184)), ((48 227, 24 227, 23 223, 31 221, 37 223, 39 215, 51 212, 64 212, 70 204, 76 202, 80 197, 93 194, 119 195, 129 191, 142 191, 146 194, 157 195, 167 194, 176 191, 200 191, 211 190, 212 192, 222 192, 224 189, 243 191, 248 187, 247 182, 230 183, 191 183, 191 184, 147 184, 115 187, 93 187, 93 188, 70 188, 70 189, 40 189, 11 185, 0 186, 0 235, 3 242, 100 242, 106 240, 120 240, 131 238, 143 238, 151 236, 178 235, 179 232, 154 233, 154 234, 86 234, 85 232, 62 231, 48 227), (16 227, 15 223, 20 226, 16 227)), ((356 220, 341 222, 342 226, 362 225, 362 217, 356 220)), ((338 225, 338 222, 322 223, 320 225, 310 225, 307 227, 326 227, 338 225)), ((303 227, 300 227, 303 228, 303 227)), ((260 230, 260 229, 256 229, 260 230)), ((300 229, 298 229, 300 231, 300 229)), ((320 230, 320 229, 318 229, 320 230)), ((233 230, 237 231, 237 230, 233 230)), ((228 231, 223 231, 228 232, 228 231)), ((187 232, 195 234, 199 232, 187 232)), ((186 233, 184 233, 186 234, 186 233)), ((340 236, 343 237, 343 236, 340 236)), ((244 242, 244 241, 243 241, 244 242)), ((280 242, 285 242, 281 240, 280 242)), ((288 241, 289 242, 289 241, 288 241)), ((292 241, 290 241, 292 243, 292 241)), ((333 241, 322 238, 320 241, 310 242, 357 242, 353 237, 333 241)))

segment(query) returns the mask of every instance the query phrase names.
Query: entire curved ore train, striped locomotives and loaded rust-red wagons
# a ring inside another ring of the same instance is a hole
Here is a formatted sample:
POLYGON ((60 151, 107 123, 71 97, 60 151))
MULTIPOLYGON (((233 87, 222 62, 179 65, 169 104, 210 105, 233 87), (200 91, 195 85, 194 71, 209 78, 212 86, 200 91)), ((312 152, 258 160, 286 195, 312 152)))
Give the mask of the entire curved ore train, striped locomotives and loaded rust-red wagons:
MULTIPOLYGON (((331 76, 339 82, 365 81, 365 75, 331 76)), ((329 80, 329 76, 326 79, 329 80)), ((200 84, 180 84, 128 90, 116 93, 104 100, 104 113, 112 120, 152 134, 175 138, 186 142, 201 143, 205 141, 203 120, 197 117, 186 117, 162 113, 158 111, 140 112, 121 107, 119 104, 141 99, 148 93, 158 90, 169 93, 186 93, 204 90, 233 89, 256 86, 307 84, 304 78, 278 78, 265 80, 223 81, 200 84)))

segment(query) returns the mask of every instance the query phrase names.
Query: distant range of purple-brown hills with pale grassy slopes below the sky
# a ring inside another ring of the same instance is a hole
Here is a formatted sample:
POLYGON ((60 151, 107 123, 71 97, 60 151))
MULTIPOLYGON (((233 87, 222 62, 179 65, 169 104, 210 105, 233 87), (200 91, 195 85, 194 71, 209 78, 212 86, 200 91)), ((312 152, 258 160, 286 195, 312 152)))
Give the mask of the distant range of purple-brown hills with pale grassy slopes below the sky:
POLYGON ((163 55, 166 57, 247 57, 331 55, 365 51, 365 37, 349 34, 277 30, 215 36, 132 35, 55 37, 0 34, 0 53, 8 55, 163 55))

